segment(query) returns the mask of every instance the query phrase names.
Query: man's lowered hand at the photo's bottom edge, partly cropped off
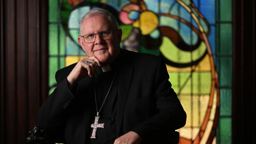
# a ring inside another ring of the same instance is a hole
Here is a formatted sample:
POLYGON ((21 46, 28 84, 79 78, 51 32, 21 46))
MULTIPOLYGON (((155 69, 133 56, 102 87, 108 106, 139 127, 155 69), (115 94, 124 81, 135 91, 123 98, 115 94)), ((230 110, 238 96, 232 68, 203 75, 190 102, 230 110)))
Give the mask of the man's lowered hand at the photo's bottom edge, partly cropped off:
POLYGON ((130 131, 121 137, 115 139, 114 144, 140 144, 141 137, 134 131, 130 131))

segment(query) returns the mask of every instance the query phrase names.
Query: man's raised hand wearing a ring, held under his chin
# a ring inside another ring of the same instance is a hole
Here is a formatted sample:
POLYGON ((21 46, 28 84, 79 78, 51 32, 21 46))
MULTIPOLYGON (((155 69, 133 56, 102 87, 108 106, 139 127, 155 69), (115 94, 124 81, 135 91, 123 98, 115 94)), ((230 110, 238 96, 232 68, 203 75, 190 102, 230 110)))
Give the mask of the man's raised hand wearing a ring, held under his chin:
POLYGON ((95 56, 80 59, 67 77, 69 88, 72 89, 75 83, 85 76, 93 76, 97 71, 97 66, 101 65, 100 61, 95 56))

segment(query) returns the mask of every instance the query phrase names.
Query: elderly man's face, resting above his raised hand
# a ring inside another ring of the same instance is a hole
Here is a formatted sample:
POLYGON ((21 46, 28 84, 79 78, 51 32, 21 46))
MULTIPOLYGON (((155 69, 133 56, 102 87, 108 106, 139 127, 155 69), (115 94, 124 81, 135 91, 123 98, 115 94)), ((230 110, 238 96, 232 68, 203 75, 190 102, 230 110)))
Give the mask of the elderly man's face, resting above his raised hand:
POLYGON ((122 31, 116 30, 117 28, 113 22, 109 21, 105 16, 98 14, 85 19, 80 29, 81 35, 115 30, 112 31, 112 38, 108 40, 102 40, 99 35, 96 35, 95 42, 86 43, 83 37, 78 37, 78 42, 87 56, 96 56, 102 63, 102 66, 108 65, 117 57, 120 52, 122 31))

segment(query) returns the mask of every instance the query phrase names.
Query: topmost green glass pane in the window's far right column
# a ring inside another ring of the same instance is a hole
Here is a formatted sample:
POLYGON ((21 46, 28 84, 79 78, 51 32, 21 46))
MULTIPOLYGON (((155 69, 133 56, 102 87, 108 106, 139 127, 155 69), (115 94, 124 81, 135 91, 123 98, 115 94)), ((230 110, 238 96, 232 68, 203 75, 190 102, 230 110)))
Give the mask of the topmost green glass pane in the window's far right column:
POLYGON ((232 0, 219 0, 220 4, 220 20, 232 21, 232 0))

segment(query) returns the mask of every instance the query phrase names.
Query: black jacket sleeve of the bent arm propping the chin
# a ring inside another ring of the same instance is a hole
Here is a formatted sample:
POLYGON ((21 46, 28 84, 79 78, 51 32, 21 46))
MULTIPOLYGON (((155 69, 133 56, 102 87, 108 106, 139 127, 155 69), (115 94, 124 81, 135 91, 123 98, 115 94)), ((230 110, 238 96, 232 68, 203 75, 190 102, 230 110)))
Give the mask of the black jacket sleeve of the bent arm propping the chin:
POLYGON ((54 138, 63 137, 63 122, 75 97, 67 86, 67 78, 59 78, 59 71, 56 72, 56 81, 58 86, 46 98, 37 115, 38 125, 54 138))

